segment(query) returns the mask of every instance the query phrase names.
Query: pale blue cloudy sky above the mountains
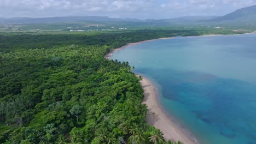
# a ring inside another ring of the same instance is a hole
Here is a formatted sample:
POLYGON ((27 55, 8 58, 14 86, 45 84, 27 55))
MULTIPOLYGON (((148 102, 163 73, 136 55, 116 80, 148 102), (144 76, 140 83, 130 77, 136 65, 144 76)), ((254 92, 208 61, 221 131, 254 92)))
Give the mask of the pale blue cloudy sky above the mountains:
POLYGON ((0 0, 0 17, 109 16, 168 19, 220 16, 256 0, 0 0))

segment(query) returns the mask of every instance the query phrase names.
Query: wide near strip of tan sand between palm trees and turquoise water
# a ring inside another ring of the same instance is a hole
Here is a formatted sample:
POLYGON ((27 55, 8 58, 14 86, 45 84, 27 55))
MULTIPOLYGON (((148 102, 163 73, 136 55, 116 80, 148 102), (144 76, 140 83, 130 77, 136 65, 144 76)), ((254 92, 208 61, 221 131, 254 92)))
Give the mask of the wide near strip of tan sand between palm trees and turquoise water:
POLYGON ((182 129, 177 127, 161 109, 158 104, 158 95, 153 83, 150 82, 147 77, 143 77, 141 85, 144 89, 143 104, 146 104, 149 110, 147 122, 150 125, 154 125, 155 128, 160 129, 162 133, 164 133, 165 140, 182 141, 184 144, 196 143, 194 140, 191 140, 182 129))

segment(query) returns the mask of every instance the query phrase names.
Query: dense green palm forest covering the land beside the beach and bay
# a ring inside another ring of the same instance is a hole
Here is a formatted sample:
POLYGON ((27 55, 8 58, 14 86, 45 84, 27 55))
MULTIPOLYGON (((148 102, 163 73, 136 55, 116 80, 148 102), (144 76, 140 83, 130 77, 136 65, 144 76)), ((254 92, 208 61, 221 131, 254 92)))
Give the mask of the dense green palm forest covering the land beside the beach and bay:
MULTIPOLYGON (((222 31, 232 34, 233 31, 222 31)), ((0 143, 172 143, 146 123, 126 43, 218 31, 0 35, 0 143)))

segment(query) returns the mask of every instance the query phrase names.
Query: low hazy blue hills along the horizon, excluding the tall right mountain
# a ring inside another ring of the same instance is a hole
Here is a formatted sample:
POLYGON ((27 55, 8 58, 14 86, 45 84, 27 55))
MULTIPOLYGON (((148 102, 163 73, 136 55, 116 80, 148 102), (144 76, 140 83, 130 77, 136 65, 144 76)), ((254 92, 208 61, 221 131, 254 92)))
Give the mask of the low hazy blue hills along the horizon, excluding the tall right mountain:
POLYGON ((65 16, 65 17, 42 17, 42 18, 31 18, 31 17, 13 17, 13 18, 1 18, 0 23, 60 23, 60 22, 132 22, 140 23, 143 22, 154 25, 171 25, 175 23, 192 23, 196 21, 208 20, 217 16, 184 16, 173 19, 161 19, 161 20, 138 20, 138 19, 121 19, 121 18, 110 18, 107 16, 65 16))

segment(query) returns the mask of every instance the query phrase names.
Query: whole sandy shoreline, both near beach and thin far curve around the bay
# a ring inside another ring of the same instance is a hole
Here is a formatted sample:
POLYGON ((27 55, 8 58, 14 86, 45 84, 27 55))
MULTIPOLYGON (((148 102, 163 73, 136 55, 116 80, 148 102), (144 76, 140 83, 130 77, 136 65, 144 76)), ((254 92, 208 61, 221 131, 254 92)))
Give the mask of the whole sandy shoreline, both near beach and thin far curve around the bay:
MULTIPOLYGON (((253 33, 244 33, 244 34, 256 34, 256 33, 253 32, 253 33)), ((186 37, 210 37, 210 36, 219 36, 219 35, 224 35, 224 34, 195 35, 195 36, 186 36, 186 37)), ((227 35, 242 35, 242 34, 227 34, 227 35)), ((109 59, 114 52, 128 48, 132 45, 147 43, 149 41, 155 41, 160 39, 173 39, 173 38, 175 37, 158 38, 158 39, 139 41, 137 43, 128 43, 124 46, 119 47, 118 49, 114 49, 113 51, 108 52, 105 55, 105 58, 109 59)), ((136 76, 139 76, 139 75, 136 74, 136 76)), ((191 137, 191 135, 187 133, 186 130, 179 127, 177 123, 172 121, 172 119, 168 116, 168 114, 159 104, 157 88, 154 86, 154 83, 151 82, 147 77, 145 76, 142 76, 142 77, 143 77, 143 80, 140 81, 140 83, 144 89, 143 104, 146 104, 149 110, 149 116, 147 117, 147 122, 150 125, 153 125, 155 128, 160 129, 162 133, 164 133, 165 140, 172 140, 176 142, 182 141, 184 144, 196 144, 196 143, 198 144, 196 139, 191 137)))

